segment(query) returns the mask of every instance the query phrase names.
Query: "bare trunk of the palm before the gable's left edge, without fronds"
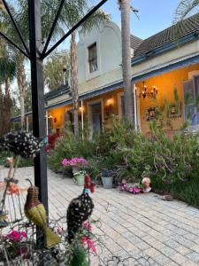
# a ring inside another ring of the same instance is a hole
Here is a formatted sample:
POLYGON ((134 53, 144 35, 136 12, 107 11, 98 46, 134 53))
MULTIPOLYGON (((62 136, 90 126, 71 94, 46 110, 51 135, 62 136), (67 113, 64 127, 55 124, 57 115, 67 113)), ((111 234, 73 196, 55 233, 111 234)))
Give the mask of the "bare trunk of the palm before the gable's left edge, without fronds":
POLYGON ((75 40, 75 31, 71 37, 71 89, 73 93, 73 114, 74 114, 74 137, 79 140, 79 119, 78 119, 78 60, 77 43, 75 40))

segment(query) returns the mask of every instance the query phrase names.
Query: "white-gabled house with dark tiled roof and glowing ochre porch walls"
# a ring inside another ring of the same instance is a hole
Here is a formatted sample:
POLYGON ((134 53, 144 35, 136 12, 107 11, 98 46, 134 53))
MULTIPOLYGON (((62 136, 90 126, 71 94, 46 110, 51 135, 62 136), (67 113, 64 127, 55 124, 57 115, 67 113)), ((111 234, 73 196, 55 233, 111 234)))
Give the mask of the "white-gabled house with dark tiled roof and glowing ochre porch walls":
MULTIPOLYGON (((149 121, 156 119, 155 106, 164 98, 173 103, 172 131, 180 130, 191 114, 190 130, 199 124, 195 98, 199 86, 199 13, 146 40, 131 35, 132 90, 134 91, 134 124, 149 133, 149 121), (178 92, 180 105, 174 105, 173 91, 178 92), (185 98, 189 96, 189 101, 185 98), (156 98, 156 101, 154 100, 156 98)), ((118 25, 105 22, 84 35, 78 43, 78 81, 80 121, 88 121, 90 132, 103 125, 112 126, 111 114, 124 115, 121 68, 121 32, 118 25)), ((70 87, 70 84, 69 84, 70 87)), ((46 95, 48 132, 73 123, 70 88, 62 86, 46 95)))

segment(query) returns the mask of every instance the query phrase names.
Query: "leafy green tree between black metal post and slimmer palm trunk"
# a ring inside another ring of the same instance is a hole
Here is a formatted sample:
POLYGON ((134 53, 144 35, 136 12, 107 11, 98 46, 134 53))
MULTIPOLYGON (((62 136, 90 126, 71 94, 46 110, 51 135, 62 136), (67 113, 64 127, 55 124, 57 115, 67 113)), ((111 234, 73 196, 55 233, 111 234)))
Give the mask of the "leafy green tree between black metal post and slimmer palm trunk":
POLYGON ((50 90, 64 84, 69 78, 69 68, 70 56, 68 51, 53 53, 44 63, 44 84, 50 90))

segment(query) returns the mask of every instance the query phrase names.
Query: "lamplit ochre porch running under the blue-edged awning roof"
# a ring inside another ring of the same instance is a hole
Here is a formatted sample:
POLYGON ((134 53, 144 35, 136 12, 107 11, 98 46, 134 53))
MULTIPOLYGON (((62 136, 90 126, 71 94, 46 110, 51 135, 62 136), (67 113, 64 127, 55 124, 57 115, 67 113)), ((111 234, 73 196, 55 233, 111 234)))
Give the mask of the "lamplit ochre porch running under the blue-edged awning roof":
MULTIPOLYGON (((173 135, 174 132, 180 130, 185 119, 188 118, 188 109, 190 105, 195 105, 195 98, 198 93, 197 82, 195 77, 199 74, 199 64, 194 64, 186 67, 179 67, 176 70, 166 72, 164 74, 155 74, 152 77, 134 83, 134 124, 135 128, 140 129, 142 134, 149 134, 149 121, 156 119, 155 108, 162 106, 165 99, 168 103, 175 102, 174 90, 177 91, 179 98, 179 109, 172 109, 169 114, 172 121, 172 129, 166 129, 168 135, 173 135), (144 82, 144 83, 143 83, 144 82), (189 83, 188 83, 189 82, 189 83), (187 85, 188 84, 188 85, 187 85), (146 96, 143 98, 142 92, 146 86, 146 96), (157 95, 153 97, 154 86, 157 88, 157 95), (192 102, 185 104, 184 98, 186 94, 190 94, 192 102), (173 113, 174 112, 174 113, 173 113), (185 114, 186 113, 186 114, 185 114)), ((101 131, 103 127, 112 127, 112 114, 121 119, 124 116, 124 92, 122 84, 112 85, 111 90, 104 88, 103 90, 95 90, 95 93, 81 96, 79 103, 79 121, 82 129, 85 125, 91 134, 96 131, 101 131), (95 95, 92 97, 92 95, 95 95)), ((190 108, 189 108, 190 109, 190 108)), ((198 114, 196 113, 196 116, 198 114)), ((49 108, 48 116, 49 132, 56 129, 63 130, 66 122, 70 122, 73 127, 73 105, 57 106, 49 108)), ((191 125, 197 126, 199 120, 195 119, 195 107, 191 110, 191 125)))

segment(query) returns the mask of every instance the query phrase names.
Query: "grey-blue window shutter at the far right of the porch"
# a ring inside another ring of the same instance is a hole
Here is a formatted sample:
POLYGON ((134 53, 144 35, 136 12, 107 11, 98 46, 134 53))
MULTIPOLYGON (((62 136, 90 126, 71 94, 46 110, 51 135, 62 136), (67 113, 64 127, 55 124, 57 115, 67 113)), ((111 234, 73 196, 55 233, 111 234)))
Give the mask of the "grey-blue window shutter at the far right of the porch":
POLYGON ((183 82, 183 94, 184 94, 184 115, 185 120, 191 121, 191 126, 199 124, 199 113, 195 107, 195 98, 198 91, 198 82, 194 82, 193 79, 187 82, 183 82), (196 86, 195 86, 196 85, 196 86))

